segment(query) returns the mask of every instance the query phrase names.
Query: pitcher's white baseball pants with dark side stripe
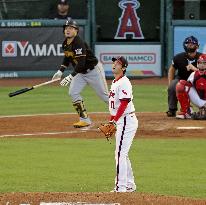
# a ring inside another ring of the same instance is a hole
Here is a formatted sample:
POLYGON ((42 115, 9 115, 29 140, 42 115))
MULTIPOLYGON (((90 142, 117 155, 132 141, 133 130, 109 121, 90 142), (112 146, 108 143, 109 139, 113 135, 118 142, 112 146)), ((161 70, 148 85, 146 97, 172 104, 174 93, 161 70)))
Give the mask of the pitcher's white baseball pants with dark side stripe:
POLYGON ((136 189, 131 162, 128 157, 133 138, 138 128, 135 113, 122 116, 117 122, 116 137, 116 177, 115 190, 126 192, 127 188, 136 189))

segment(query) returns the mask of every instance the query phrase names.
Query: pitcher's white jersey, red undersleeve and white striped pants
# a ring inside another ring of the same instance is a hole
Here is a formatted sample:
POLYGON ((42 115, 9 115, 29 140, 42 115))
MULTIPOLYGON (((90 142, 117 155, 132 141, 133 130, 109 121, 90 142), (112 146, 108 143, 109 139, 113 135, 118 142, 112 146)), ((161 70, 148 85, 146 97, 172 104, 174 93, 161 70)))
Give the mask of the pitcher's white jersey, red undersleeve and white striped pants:
POLYGON ((116 178, 115 189, 126 192, 136 189, 133 171, 128 157, 129 149, 138 128, 138 120, 132 102, 132 85, 126 76, 113 80, 109 95, 111 120, 117 124, 116 137, 116 178))

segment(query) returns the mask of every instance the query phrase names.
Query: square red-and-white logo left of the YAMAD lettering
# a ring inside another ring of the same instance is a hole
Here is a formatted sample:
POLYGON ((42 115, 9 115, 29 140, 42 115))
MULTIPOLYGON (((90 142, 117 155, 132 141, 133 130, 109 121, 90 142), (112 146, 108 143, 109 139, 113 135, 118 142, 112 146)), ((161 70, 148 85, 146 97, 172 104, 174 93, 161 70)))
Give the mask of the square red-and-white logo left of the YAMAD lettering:
POLYGON ((16 57, 17 56, 16 41, 3 41, 2 42, 2 56, 3 57, 16 57))

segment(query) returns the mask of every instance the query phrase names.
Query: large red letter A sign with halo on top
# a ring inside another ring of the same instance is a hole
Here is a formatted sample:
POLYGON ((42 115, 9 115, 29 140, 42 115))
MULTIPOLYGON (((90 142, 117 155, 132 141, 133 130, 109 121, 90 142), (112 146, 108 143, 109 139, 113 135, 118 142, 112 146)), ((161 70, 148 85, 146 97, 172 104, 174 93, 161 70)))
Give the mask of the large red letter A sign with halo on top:
POLYGON ((126 39, 126 34, 132 35, 133 39, 144 39, 140 26, 140 19, 137 16, 136 9, 140 7, 137 0, 122 0, 119 7, 123 9, 122 16, 119 18, 119 25, 115 39, 126 39))

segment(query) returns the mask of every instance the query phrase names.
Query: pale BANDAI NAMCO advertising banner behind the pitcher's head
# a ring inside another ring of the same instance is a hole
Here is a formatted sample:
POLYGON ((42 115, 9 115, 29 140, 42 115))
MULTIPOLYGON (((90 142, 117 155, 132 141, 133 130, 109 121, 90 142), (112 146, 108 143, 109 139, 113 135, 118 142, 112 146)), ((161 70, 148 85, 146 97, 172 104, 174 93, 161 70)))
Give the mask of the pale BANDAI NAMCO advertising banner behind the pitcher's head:
POLYGON ((112 58, 124 56, 129 63, 127 76, 161 76, 161 45, 95 45, 96 56, 106 76, 112 74, 112 58))

